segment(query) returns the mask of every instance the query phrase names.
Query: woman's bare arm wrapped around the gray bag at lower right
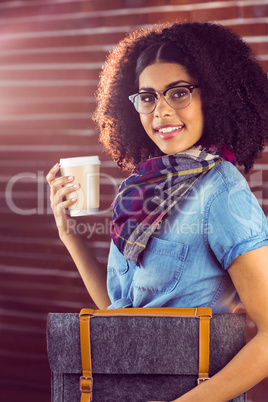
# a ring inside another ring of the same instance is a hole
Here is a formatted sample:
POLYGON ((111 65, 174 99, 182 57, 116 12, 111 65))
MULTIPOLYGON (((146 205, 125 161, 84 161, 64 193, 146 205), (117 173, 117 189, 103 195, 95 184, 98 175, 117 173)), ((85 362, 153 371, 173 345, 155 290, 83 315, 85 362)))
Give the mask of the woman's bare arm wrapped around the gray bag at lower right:
MULTIPOLYGON (((219 373, 176 402, 225 402, 268 375, 268 246, 237 257, 228 268, 257 335, 219 373)), ((175 401, 174 401, 175 402, 175 401)))

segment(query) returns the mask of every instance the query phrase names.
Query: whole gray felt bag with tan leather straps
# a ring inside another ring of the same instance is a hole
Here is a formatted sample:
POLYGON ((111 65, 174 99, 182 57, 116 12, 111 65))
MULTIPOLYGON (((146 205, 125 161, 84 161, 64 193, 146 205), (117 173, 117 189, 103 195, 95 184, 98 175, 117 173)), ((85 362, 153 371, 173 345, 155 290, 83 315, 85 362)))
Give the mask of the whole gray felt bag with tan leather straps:
MULTIPOLYGON (((245 314, 212 317, 210 308, 50 313, 51 401, 176 399, 238 353, 245 327, 245 314)), ((246 401, 246 394, 233 401, 246 401)))

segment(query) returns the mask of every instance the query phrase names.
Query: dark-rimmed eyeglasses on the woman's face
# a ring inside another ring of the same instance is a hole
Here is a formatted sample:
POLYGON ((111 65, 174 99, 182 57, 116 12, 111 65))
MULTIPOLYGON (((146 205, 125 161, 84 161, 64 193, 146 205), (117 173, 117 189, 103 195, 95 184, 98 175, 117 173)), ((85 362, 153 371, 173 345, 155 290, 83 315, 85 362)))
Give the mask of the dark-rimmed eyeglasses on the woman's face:
POLYGON ((160 99, 164 95, 166 102, 173 109, 184 109, 192 100, 192 93, 199 85, 183 85, 166 89, 164 92, 139 92, 129 96, 135 109, 141 114, 152 113, 160 99))

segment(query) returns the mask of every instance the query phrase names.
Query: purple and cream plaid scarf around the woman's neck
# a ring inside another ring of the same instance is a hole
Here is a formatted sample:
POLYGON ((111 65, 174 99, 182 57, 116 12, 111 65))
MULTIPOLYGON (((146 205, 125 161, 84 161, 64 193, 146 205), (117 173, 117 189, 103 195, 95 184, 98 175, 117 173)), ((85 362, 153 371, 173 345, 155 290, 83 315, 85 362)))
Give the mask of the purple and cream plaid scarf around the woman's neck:
POLYGON ((139 264, 165 215, 222 159, 218 152, 197 146, 138 165, 137 173, 123 181, 112 204, 111 237, 126 259, 139 264))

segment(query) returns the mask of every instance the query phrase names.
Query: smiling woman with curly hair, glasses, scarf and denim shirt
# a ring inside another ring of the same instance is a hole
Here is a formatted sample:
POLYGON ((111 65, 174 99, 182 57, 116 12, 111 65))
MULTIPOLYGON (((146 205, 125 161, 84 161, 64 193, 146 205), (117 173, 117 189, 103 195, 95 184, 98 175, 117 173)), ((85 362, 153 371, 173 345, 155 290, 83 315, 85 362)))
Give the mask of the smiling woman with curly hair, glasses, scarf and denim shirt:
POLYGON ((267 136, 267 78, 250 49, 209 23, 130 34, 103 68, 95 121, 133 174, 113 204, 108 286, 67 231, 74 178, 47 176, 61 240, 99 308, 212 307, 239 300, 258 333, 209 381, 176 401, 228 401, 268 375, 268 227, 245 171, 267 136), (134 105, 134 107, 133 107, 134 105), (223 386, 224 385, 224 386, 223 386))

